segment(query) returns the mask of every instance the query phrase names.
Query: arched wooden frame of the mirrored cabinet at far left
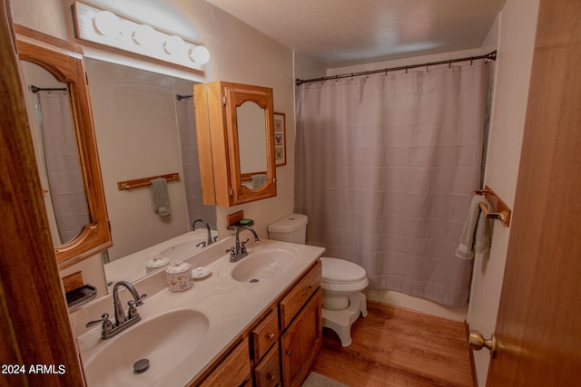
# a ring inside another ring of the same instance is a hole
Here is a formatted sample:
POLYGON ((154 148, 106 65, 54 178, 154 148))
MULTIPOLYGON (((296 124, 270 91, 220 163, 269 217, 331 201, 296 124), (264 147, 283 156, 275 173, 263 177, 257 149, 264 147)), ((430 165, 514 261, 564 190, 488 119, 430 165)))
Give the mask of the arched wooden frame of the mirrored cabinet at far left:
MULTIPOLYGON (((84 69, 84 52, 83 48, 77 44, 62 41, 20 25, 15 25, 15 33, 18 56, 21 62, 34 63, 42 67, 54 77, 55 81, 62 83, 64 94, 68 95, 70 104, 70 109, 67 107, 67 112, 64 115, 71 116, 71 131, 74 131, 74 133, 67 133, 67 136, 73 139, 72 142, 76 145, 78 156, 72 155, 71 157, 69 154, 67 158, 78 159, 78 168, 76 169, 80 169, 79 185, 82 186, 78 190, 82 191, 82 193, 84 191, 86 211, 82 217, 86 218, 86 224, 79 226, 78 233, 74 231, 73 237, 64 237, 64 240, 54 236, 54 233, 58 231, 55 231, 54 227, 52 227, 51 232, 55 241, 56 261, 59 267, 63 269, 113 246, 84 69), (62 240, 62 242, 56 242, 59 240, 62 240)), ((21 73, 24 72, 22 70, 24 67, 24 65, 21 66, 21 73)), ((27 82, 26 74, 23 75, 24 82, 27 82)), ((24 88, 30 90, 29 86, 25 84, 24 88)), ((29 121, 33 121, 37 111, 32 112, 29 109, 28 113, 29 121), (31 119, 31 117, 33 118, 31 119)), ((44 174, 46 173, 45 170, 42 170, 44 169, 44 162, 40 161, 37 160, 39 172, 44 174)), ((49 177, 49 179, 51 178, 49 177)), ((61 182, 58 184, 61 184, 61 182)), ((45 188, 46 192, 44 194, 56 196, 56 192, 59 190, 56 189, 58 184, 55 181, 51 181, 50 188, 45 188), (51 193, 50 191, 53 189, 54 192, 51 193)), ((62 190, 67 191, 67 189, 62 190)), ((53 203, 54 200, 55 198, 52 198, 53 203)), ((66 199, 63 201, 66 202, 66 199)), ((83 198, 77 201, 82 202, 83 198)), ((52 206, 46 207, 50 208, 52 206)), ((48 218, 56 217, 55 214, 48 215, 48 218)))

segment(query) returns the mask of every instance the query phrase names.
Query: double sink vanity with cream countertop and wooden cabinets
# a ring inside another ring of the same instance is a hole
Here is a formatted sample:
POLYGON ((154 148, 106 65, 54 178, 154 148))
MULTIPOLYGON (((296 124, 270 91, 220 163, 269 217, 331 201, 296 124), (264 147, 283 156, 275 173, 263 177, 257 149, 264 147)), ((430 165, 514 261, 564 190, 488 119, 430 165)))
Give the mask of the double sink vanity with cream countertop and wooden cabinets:
POLYGON ((184 258, 212 272, 186 291, 171 292, 164 269, 133 283, 147 295, 141 321, 110 339, 85 324, 113 315, 113 295, 71 314, 88 386, 300 385, 321 343, 324 249, 252 240, 231 262, 234 244, 227 237, 184 258))

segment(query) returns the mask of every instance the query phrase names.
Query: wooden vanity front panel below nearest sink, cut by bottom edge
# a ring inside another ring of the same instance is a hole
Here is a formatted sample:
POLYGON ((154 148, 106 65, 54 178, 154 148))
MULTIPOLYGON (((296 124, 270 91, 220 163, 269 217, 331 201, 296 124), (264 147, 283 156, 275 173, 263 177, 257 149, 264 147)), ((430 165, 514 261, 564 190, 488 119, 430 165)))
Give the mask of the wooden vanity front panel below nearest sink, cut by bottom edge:
POLYGON ((251 376, 250 348, 248 339, 244 339, 200 385, 240 386, 251 380, 251 376))

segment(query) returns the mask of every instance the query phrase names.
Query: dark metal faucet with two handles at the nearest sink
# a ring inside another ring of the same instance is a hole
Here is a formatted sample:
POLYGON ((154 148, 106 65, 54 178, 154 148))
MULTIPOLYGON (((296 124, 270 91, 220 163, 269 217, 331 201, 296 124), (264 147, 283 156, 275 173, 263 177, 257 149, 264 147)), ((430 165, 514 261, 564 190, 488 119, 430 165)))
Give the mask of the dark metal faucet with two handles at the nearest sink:
POLYGON ((139 295, 137 290, 133 285, 127 281, 119 281, 113 286, 113 308, 115 314, 114 324, 109 320, 109 314, 104 313, 99 320, 90 321, 86 324, 86 327, 93 326, 94 324, 102 323, 101 328, 101 338, 103 340, 110 339, 115 334, 123 332, 125 329, 129 328, 131 325, 137 323, 142 317, 137 312, 137 306, 143 305, 143 298, 147 295, 139 295), (127 314, 123 311, 123 306, 121 305, 121 300, 119 298, 119 287, 125 287, 131 295, 133 300, 130 300, 127 305, 127 314))

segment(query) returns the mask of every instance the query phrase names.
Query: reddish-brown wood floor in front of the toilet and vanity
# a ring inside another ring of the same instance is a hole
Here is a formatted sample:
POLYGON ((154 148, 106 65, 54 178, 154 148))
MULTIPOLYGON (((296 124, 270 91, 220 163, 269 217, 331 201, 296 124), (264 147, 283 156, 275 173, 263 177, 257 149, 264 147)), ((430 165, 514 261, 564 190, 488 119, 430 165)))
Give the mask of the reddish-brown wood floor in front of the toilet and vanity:
POLYGON ((474 387, 464 323, 368 301, 347 348, 323 328, 312 371, 352 387, 474 387))

